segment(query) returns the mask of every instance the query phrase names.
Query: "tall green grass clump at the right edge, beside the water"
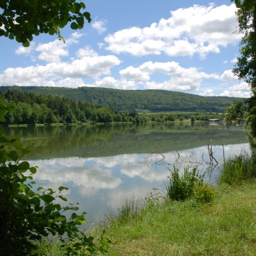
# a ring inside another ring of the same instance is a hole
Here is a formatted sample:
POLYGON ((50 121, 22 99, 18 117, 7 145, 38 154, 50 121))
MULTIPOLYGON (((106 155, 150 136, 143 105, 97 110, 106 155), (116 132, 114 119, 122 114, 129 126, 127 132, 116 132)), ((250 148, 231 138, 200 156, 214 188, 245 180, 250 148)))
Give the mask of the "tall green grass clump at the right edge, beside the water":
POLYGON ((239 185, 243 181, 256 178, 256 154, 250 156, 247 152, 241 152, 229 158, 220 170, 219 183, 239 185))

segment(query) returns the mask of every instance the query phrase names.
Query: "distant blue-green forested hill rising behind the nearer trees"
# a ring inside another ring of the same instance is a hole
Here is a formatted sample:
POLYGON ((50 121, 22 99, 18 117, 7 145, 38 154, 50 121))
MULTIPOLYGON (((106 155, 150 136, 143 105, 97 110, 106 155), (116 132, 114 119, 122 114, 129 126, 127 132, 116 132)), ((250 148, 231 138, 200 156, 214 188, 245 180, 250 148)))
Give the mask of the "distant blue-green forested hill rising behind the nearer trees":
POLYGON ((112 88, 63 88, 39 86, 0 86, 1 91, 20 90, 34 94, 63 96, 81 102, 114 107, 115 111, 197 111, 225 112, 234 100, 226 96, 199 96, 164 90, 118 90, 112 88))

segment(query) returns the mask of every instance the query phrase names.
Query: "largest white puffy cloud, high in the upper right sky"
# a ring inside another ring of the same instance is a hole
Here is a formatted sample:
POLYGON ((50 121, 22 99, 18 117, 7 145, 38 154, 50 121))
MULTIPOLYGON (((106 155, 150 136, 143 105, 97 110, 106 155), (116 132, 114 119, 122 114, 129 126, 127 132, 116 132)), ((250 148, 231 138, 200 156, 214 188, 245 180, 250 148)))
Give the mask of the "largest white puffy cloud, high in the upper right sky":
POLYGON ((149 27, 125 28, 106 36, 106 49, 133 56, 161 53, 192 56, 197 53, 203 58, 239 40, 240 36, 233 33, 236 30, 235 11, 234 4, 177 9, 170 12, 167 20, 161 19, 149 27))

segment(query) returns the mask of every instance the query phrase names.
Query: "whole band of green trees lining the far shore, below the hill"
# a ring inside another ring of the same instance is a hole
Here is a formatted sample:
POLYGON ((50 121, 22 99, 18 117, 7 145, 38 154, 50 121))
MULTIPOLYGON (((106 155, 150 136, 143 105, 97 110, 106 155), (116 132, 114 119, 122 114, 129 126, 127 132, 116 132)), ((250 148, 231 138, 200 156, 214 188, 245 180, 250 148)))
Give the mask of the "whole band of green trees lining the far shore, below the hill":
POLYGON ((136 112, 115 111, 112 105, 102 107, 89 102, 77 102, 62 96, 34 94, 20 90, 0 91, 0 97, 7 105, 13 106, 13 112, 5 115, 7 125, 51 124, 51 123, 112 123, 148 121, 172 122, 185 119, 207 121, 209 118, 224 118, 207 112, 136 112))

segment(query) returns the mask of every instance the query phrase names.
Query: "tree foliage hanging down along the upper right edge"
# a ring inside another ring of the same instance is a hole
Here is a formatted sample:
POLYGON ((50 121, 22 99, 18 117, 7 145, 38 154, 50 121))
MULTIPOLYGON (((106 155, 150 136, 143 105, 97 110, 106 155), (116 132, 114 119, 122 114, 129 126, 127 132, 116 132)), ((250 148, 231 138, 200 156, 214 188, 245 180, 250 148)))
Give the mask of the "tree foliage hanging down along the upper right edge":
POLYGON ((244 80, 251 88, 252 94, 249 99, 242 102, 234 102, 228 108, 228 120, 247 118, 250 133, 256 137, 256 9, 255 1, 236 0, 236 17, 239 22, 239 33, 243 36, 240 42, 241 56, 237 58, 237 63, 233 73, 239 80, 244 80))

